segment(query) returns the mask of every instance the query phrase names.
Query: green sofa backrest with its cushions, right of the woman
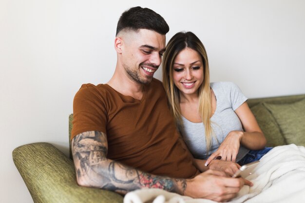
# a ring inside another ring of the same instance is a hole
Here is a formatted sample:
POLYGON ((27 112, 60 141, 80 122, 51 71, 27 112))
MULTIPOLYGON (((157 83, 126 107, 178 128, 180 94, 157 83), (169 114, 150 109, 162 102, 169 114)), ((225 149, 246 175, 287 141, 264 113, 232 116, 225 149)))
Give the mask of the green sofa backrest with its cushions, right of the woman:
POLYGON ((305 146, 305 94, 247 101, 267 139, 267 147, 305 146))

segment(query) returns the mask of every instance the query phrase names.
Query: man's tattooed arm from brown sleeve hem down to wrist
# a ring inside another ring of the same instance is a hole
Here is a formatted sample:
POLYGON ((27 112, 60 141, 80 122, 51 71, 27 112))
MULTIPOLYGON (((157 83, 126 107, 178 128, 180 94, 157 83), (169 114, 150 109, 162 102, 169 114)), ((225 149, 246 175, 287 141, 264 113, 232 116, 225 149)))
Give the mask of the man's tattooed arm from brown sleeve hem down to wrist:
POLYGON ((152 175, 107 159, 107 136, 88 131, 76 135, 72 142, 77 183, 125 194, 139 188, 161 188, 184 194, 187 181, 152 175))

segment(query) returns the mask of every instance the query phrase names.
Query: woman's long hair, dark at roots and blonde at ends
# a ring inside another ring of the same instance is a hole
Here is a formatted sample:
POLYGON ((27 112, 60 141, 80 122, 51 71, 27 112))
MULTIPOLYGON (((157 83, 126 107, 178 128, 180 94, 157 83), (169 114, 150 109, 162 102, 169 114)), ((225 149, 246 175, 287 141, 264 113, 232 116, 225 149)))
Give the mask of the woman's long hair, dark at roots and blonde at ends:
POLYGON ((190 48, 199 53, 203 61, 204 79, 198 89, 199 114, 202 118, 206 132, 207 152, 211 147, 212 128, 210 117, 212 115, 211 94, 210 94, 210 71, 206 49, 200 39, 192 32, 176 33, 168 42, 166 51, 163 55, 163 86, 169 99, 169 107, 176 121, 177 128, 184 133, 182 128, 182 117, 180 113, 180 91, 173 82, 173 64, 176 56, 185 48, 190 48))

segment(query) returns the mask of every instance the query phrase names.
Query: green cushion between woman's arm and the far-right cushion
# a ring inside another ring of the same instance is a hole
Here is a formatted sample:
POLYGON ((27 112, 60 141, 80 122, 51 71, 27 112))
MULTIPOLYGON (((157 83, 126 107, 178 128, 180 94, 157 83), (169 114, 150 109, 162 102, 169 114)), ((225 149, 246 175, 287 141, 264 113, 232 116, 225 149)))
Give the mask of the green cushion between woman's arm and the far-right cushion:
POLYGON ((286 145, 285 139, 281 130, 271 113, 266 109, 263 103, 259 103, 251 107, 258 125, 263 130, 267 139, 267 147, 276 147, 286 145))

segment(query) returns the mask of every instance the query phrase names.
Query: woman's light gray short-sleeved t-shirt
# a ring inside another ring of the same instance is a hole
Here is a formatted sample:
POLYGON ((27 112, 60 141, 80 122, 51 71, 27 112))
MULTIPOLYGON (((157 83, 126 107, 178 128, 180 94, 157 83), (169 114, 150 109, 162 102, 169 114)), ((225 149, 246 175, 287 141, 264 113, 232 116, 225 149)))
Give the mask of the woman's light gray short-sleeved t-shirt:
MULTIPOLYGON (((218 149, 230 131, 244 131, 234 111, 248 99, 239 87, 232 82, 210 83, 210 87, 216 96, 216 110, 210 119, 211 127, 218 141, 213 137, 212 146, 208 153, 203 123, 193 123, 182 116, 183 139, 194 158, 204 160, 208 159, 218 149)), ((236 162, 241 160, 248 152, 249 149, 240 146, 236 162)))

